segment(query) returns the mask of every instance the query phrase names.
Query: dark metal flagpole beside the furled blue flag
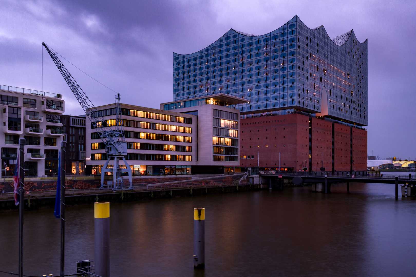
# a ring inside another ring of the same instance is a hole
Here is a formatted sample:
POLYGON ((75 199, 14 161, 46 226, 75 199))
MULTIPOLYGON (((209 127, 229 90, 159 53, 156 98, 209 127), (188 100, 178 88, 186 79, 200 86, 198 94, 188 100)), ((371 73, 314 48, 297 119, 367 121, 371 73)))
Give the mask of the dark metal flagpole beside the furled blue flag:
POLYGON ((61 141, 61 273, 65 275, 65 154, 67 142, 61 141))

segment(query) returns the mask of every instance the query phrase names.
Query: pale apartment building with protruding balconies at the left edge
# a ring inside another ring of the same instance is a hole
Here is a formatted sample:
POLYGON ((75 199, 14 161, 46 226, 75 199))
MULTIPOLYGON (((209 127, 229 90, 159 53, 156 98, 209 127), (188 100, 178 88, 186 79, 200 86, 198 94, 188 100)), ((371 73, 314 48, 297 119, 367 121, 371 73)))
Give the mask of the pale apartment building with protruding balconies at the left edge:
POLYGON ((2 176, 13 175, 20 138, 26 139, 25 176, 57 175, 64 137, 62 95, 1 85, 0 98, 2 176))

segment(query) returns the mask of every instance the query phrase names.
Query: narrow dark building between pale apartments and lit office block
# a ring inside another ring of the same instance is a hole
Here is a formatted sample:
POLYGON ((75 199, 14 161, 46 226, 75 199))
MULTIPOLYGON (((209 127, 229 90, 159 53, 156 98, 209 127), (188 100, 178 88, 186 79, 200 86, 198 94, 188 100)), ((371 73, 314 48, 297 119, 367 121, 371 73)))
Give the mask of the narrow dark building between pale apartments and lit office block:
POLYGON ((85 115, 62 115, 62 128, 66 148, 66 173, 75 175, 85 174, 85 115))

